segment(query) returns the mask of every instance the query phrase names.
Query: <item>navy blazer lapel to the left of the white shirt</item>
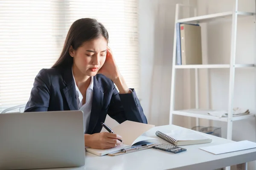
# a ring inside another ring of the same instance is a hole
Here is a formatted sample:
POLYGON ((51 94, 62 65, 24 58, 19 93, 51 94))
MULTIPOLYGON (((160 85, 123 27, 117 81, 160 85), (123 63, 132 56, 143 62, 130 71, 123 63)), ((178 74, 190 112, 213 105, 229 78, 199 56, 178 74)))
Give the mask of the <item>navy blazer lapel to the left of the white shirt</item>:
POLYGON ((76 85, 72 74, 72 65, 70 68, 62 71, 63 82, 66 85, 62 91, 67 100, 67 104, 71 111, 78 110, 76 102, 76 85))

